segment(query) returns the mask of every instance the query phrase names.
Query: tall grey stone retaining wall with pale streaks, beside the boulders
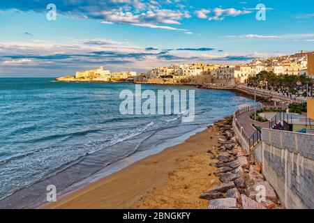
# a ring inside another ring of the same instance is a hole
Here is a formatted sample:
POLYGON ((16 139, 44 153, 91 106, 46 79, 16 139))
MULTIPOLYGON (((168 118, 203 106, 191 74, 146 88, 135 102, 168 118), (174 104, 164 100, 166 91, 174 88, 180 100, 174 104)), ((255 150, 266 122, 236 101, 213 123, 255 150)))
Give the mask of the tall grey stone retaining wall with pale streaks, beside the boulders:
POLYGON ((253 155, 286 208, 314 208, 314 135, 262 129, 253 155))

